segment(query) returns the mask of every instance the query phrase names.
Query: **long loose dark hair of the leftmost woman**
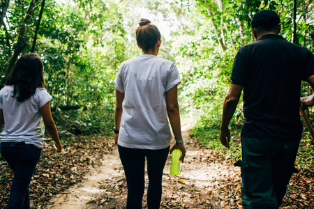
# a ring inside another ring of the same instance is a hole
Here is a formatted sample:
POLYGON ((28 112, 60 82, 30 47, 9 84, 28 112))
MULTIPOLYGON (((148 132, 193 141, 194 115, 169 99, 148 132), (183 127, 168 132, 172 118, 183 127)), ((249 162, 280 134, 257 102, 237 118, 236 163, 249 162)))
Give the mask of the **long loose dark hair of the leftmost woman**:
POLYGON ((15 64, 6 79, 6 85, 14 86, 13 97, 19 102, 27 100, 36 88, 45 86, 43 62, 36 53, 27 53, 15 64))

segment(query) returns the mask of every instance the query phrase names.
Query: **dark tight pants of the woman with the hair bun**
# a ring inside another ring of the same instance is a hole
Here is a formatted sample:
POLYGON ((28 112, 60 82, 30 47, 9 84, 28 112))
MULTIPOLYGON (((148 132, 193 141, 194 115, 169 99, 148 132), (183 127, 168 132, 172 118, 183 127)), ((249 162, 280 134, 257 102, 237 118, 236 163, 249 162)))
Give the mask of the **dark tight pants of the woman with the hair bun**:
POLYGON ((142 208, 145 157, 147 158, 149 177, 147 208, 158 209, 160 207, 163 169, 169 155, 169 149, 170 147, 161 150, 144 150, 119 146, 119 155, 128 185, 127 209, 142 208))

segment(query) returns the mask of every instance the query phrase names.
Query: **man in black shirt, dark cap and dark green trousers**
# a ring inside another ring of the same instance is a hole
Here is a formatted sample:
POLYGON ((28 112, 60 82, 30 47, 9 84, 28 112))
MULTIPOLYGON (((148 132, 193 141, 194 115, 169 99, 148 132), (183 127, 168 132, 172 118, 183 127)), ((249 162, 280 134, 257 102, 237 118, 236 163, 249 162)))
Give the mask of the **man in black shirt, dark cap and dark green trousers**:
POLYGON ((243 89, 242 160, 235 163, 241 167, 242 205, 279 208, 296 170, 301 80, 314 86, 314 56, 278 35, 280 19, 272 10, 256 13, 251 28, 256 41, 241 47, 234 59, 220 141, 230 147, 228 125, 243 89))

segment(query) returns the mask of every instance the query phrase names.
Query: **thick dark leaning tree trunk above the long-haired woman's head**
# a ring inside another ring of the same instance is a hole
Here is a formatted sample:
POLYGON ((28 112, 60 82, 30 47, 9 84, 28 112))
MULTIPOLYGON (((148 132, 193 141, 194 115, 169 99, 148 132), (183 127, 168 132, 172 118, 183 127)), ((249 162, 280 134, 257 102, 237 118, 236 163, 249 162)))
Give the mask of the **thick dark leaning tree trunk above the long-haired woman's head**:
POLYGON ((29 3, 27 15, 25 15, 25 18, 22 22, 22 26, 19 32, 19 37, 17 38, 17 43, 15 44, 15 47, 14 47, 14 54, 11 58, 10 64, 8 65, 8 69, 6 70, 6 76, 8 76, 8 73, 10 72, 10 70, 13 69, 17 61, 17 57, 21 54, 21 52, 26 46, 26 42, 24 40, 24 33, 26 31, 26 25, 29 22, 29 20, 31 20, 31 13, 33 12, 33 8, 35 8, 36 3, 38 3, 38 1, 39 0, 31 0, 31 3, 29 3))

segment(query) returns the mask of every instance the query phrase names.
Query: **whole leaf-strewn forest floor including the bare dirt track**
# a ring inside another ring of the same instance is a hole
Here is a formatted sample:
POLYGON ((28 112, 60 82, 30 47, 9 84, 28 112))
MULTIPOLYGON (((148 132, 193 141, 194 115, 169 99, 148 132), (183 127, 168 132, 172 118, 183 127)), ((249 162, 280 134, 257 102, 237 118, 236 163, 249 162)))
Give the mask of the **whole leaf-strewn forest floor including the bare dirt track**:
MULTIPOLYGON (((239 168, 190 138, 188 127, 183 130, 186 159, 180 174, 173 176, 168 158, 160 208, 242 208, 239 168)), ((82 136, 76 140, 64 143, 62 155, 46 144, 31 182, 36 208, 124 208, 126 180, 113 139, 82 136)), ((0 173, 0 208, 4 208, 12 173, 5 163, 0 173)), ((304 173, 294 175, 281 209, 314 208, 313 179, 304 173)), ((147 208, 145 196, 143 208, 147 208)))

